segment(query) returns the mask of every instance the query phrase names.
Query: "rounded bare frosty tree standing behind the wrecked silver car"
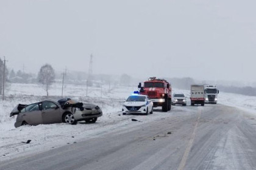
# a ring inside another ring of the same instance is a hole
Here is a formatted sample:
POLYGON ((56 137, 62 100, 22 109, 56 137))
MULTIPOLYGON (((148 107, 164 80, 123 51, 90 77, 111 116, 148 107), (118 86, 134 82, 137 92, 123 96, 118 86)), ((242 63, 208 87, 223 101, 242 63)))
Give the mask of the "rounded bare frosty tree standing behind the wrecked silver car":
POLYGON ((48 96, 48 90, 52 83, 54 83, 55 80, 55 73, 54 69, 52 69, 52 66, 50 64, 45 64, 41 67, 39 73, 38 73, 38 82, 43 84, 44 89, 46 90, 47 96, 48 96))

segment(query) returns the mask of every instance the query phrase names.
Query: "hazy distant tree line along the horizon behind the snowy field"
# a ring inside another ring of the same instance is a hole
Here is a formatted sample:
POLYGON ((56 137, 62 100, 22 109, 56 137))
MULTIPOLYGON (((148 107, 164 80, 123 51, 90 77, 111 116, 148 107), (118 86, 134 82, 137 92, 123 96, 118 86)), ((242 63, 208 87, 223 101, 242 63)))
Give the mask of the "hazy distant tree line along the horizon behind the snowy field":
MULTIPOLYGON (((0 95, 2 94, 2 82, 4 72, 4 63, 0 58, 0 95)), ((59 74, 57 78, 62 78, 62 74, 59 74)), ((51 87, 52 83, 55 81, 55 72, 50 64, 44 64, 40 71, 37 74, 33 73, 25 73, 21 70, 15 72, 13 69, 9 72, 9 70, 5 67, 5 81, 8 83, 40 83, 44 90, 46 90, 46 95, 48 96, 48 90, 51 87)), ((66 80, 66 83, 74 83, 74 84, 85 84, 87 80, 87 74, 83 72, 70 72, 69 79, 66 80)), ((173 88, 176 89, 184 89, 190 90, 191 84, 198 84, 197 81, 193 80, 193 78, 165 78, 169 83, 171 83, 173 88)), ((122 75, 93 75, 93 86, 100 87, 102 84, 110 84, 112 86, 121 85, 121 86, 135 86, 140 83, 141 80, 137 78, 133 78, 126 73, 122 75)), ((144 81, 144 80, 142 80, 144 81)), ((57 81, 58 82, 58 81, 57 81)), ((200 83, 199 83, 200 84, 200 83)), ((217 84, 220 92, 228 92, 234 94, 242 94, 248 96, 256 96, 256 87, 235 87, 235 86, 222 86, 217 84)))

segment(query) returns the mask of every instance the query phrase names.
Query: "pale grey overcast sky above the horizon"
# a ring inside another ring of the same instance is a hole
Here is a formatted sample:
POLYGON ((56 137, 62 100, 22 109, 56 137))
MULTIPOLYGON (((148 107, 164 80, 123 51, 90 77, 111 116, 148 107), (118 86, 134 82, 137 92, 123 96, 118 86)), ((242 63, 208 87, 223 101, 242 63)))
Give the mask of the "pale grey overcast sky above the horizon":
POLYGON ((0 0, 9 69, 255 81, 255 0, 0 0))

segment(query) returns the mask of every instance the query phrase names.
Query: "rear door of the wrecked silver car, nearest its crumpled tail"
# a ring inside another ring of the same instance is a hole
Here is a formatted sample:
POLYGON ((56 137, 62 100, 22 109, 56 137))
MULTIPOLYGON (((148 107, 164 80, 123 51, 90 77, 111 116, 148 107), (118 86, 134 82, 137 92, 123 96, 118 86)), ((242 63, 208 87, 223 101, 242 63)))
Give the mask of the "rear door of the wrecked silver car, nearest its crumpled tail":
POLYGON ((21 110, 22 118, 27 124, 42 124, 43 119, 39 103, 29 104, 21 110))

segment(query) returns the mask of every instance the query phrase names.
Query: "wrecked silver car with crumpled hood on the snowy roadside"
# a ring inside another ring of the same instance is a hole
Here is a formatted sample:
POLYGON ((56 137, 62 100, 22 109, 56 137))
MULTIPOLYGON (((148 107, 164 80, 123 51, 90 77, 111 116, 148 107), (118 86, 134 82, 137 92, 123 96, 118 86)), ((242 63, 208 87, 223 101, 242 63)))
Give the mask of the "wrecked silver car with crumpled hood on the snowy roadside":
POLYGON ((10 113, 10 117, 17 115, 15 127, 25 124, 68 123, 77 121, 95 123, 102 116, 99 106, 80 103, 70 98, 44 100, 33 104, 18 104, 10 113))

